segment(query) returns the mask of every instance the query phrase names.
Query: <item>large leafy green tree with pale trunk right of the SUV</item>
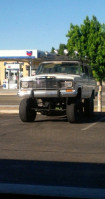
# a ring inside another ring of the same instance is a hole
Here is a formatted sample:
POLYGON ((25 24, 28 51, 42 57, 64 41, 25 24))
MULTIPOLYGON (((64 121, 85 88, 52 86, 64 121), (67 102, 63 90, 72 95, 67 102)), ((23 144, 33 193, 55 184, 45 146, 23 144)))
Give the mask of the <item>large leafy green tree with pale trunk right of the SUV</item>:
POLYGON ((102 81, 105 81, 105 24, 100 24, 95 16, 87 16, 83 24, 70 24, 67 49, 69 55, 77 51, 79 57, 90 61, 93 75, 99 81, 98 111, 102 111, 102 81))

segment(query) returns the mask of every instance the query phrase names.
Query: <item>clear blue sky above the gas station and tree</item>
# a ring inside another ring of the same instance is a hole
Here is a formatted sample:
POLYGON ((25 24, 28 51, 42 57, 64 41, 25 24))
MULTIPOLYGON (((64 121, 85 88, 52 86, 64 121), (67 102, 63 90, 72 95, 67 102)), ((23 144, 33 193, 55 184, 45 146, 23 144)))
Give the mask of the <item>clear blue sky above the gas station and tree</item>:
POLYGON ((105 23, 105 0, 0 0, 0 50, 57 49, 93 15, 105 23))

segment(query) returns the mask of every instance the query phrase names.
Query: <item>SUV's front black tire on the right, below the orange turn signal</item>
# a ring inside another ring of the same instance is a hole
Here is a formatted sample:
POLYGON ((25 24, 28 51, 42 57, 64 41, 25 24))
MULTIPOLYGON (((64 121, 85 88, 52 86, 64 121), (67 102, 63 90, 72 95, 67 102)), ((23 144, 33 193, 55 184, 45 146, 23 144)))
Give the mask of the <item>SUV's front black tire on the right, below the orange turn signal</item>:
POLYGON ((82 103, 76 100, 74 103, 67 105, 66 114, 70 123, 80 122, 82 117, 82 103))

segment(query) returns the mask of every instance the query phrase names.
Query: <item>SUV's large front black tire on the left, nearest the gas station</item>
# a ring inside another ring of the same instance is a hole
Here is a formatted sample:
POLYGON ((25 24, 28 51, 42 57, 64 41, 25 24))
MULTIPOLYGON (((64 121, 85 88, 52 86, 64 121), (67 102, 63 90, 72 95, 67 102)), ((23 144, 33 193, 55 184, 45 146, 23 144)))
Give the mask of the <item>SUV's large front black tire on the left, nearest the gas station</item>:
POLYGON ((20 102, 19 117, 23 122, 33 122, 36 118, 35 102, 32 98, 25 98, 20 102))

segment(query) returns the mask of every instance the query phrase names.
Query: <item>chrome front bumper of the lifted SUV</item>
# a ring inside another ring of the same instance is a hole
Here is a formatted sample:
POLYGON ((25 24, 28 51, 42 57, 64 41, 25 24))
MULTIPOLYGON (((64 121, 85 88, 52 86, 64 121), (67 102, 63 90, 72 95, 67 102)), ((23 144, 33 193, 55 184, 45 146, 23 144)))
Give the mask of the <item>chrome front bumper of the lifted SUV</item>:
POLYGON ((19 97, 34 95, 36 98, 57 98, 57 97, 76 97, 77 91, 72 89, 67 90, 19 90, 19 97))

